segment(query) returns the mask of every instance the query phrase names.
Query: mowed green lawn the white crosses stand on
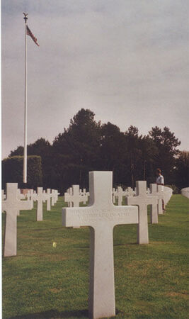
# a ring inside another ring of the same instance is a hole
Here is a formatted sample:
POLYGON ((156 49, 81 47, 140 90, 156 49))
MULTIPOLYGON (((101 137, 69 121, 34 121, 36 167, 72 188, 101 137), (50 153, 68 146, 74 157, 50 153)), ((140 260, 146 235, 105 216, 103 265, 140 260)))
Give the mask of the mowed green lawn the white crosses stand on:
MULTIPOLYGON (((42 222, 35 209, 17 218, 18 254, 3 258, 3 318, 88 318, 89 229, 63 228, 62 206, 62 197, 50 212, 44 204, 42 222)), ((116 318, 188 318, 188 211, 188 198, 172 196, 149 224, 149 245, 136 244, 137 225, 114 228, 116 318)))

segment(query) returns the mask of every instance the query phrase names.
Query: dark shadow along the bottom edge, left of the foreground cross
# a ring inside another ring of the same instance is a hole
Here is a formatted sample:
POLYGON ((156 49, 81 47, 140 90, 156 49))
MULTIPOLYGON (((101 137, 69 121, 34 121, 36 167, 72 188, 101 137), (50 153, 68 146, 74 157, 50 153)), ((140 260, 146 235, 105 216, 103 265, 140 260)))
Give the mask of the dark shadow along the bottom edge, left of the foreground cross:
POLYGON ((28 315, 16 315, 9 319, 38 319, 38 318, 88 318, 88 310, 61 311, 52 309, 42 313, 30 313, 28 315))

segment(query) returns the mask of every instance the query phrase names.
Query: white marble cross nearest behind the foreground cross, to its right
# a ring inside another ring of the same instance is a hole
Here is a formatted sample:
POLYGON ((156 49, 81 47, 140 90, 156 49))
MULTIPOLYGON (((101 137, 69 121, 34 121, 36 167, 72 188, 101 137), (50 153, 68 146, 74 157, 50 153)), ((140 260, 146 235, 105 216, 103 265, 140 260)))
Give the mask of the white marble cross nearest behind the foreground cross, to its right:
POLYGON ((156 196, 147 196, 147 181, 136 181, 137 194, 133 197, 126 197, 127 205, 139 207, 138 243, 149 243, 148 212, 147 206, 156 203, 156 196))

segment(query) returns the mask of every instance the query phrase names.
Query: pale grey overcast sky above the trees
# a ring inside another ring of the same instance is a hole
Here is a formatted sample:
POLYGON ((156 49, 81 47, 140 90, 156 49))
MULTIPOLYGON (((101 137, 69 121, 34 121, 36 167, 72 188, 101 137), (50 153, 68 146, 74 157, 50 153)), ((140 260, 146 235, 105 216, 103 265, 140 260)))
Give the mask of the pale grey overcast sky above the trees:
POLYGON ((189 150, 188 0, 1 0, 2 157, 23 145, 24 21, 28 143, 52 142, 81 108, 139 133, 168 126, 189 150))

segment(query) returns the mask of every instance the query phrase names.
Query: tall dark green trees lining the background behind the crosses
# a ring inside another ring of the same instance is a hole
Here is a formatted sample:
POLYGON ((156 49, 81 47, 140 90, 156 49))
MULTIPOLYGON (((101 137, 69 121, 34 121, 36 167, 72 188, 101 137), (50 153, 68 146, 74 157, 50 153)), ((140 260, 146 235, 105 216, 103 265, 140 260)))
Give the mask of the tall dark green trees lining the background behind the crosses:
MULTIPOLYGON (((135 126, 121 132, 113 123, 97 123, 94 116, 82 108, 52 145, 43 138, 28 145, 28 155, 42 159, 45 188, 62 193, 71 184, 87 187, 91 170, 111 170, 114 186, 134 187, 137 179, 154 182, 157 167, 162 169, 166 184, 180 189, 188 186, 189 155, 185 152, 183 157, 179 152, 181 142, 169 128, 151 128, 149 135, 142 136, 135 126)), ((12 151, 13 155, 23 155, 23 147, 12 151)))

